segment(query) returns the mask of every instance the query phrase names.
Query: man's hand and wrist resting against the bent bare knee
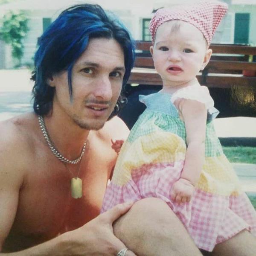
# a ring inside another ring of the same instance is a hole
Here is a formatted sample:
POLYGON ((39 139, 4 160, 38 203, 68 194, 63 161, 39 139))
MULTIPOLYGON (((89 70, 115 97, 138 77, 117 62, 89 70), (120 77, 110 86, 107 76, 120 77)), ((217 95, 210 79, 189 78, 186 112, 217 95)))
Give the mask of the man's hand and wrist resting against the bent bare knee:
MULTIPOLYGON (((121 215, 125 214, 131 206, 132 203, 118 204, 83 227, 64 233, 62 235, 64 243, 61 245, 64 254, 116 256, 126 246, 114 236, 112 224, 121 215)), ((135 254, 128 250, 125 256, 135 256, 135 254)))

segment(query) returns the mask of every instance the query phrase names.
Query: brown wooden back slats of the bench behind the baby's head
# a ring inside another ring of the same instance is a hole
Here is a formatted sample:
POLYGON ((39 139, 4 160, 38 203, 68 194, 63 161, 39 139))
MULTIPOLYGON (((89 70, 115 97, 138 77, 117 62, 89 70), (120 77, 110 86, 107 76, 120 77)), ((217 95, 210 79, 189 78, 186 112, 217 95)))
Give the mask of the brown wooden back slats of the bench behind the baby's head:
MULTIPOLYGON (((149 53, 151 42, 136 41, 136 60, 128 83, 161 85, 149 53)), ((207 87, 230 88, 233 85, 256 87, 256 62, 248 62, 256 55, 256 47, 234 44, 211 44, 213 55, 209 64, 197 78, 207 87), (243 76, 243 70, 254 71, 254 76, 243 76)))

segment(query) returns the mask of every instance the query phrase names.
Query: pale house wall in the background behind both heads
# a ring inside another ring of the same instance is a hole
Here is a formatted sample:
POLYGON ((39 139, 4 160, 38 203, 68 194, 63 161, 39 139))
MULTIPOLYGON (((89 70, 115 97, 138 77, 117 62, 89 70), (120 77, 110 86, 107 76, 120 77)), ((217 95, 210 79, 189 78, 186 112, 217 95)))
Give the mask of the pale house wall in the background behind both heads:
MULTIPOLYGON (((176 2, 172 1, 172 3, 181 3, 182 1, 183 0, 177 0, 176 2)), ((226 0, 226 2, 230 4, 230 0, 226 0)), ((170 3, 168 5, 170 6, 170 3)), ((167 5, 166 1, 163 0, 131 0, 131 4, 126 3, 123 8, 119 9, 116 9, 114 5, 108 5, 108 7, 104 5, 102 6, 105 9, 109 8, 122 20, 135 40, 141 40, 143 19, 150 19, 153 16, 153 9, 167 5)), ((35 54, 37 40, 43 32, 43 18, 48 17, 54 20, 58 13, 58 10, 26 11, 26 15, 29 17, 28 25, 30 30, 26 38, 24 38, 25 49, 22 58, 23 65, 33 64, 33 56, 35 54)), ((253 24, 256 24, 256 5, 230 5, 228 14, 224 20, 222 20, 212 42, 228 44, 233 43, 235 13, 250 13, 249 42, 256 44, 256 33, 254 32, 255 29, 253 28, 253 24)), ((6 45, 3 47, 3 43, 0 43, 0 47, 2 48, 2 51, 0 51, 0 68, 14 67, 15 61, 12 60, 10 47, 6 45)))

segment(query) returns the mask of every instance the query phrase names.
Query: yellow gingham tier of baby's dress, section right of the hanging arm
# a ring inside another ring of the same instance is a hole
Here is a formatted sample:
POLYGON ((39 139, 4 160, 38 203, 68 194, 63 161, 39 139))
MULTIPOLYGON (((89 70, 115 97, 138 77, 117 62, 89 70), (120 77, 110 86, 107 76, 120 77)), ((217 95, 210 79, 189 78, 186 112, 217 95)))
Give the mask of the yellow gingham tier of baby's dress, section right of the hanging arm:
POLYGON ((224 196, 241 193, 239 179, 225 155, 206 157, 197 187, 224 196))

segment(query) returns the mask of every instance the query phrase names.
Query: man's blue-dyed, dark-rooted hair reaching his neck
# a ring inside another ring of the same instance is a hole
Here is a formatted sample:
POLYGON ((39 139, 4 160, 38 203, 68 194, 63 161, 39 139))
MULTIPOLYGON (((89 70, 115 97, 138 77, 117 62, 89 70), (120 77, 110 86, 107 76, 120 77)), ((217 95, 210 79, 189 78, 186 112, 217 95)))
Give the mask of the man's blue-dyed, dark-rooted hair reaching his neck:
MULTIPOLYGON (((35 70, 32 73, 32 80, 35 81, 32 90, 35 113, 45 115, 52 110, 55 87, 50 87, 47 79, 60 71, 67 70, 70 100, 72 100, 73 66, 87 48, 91 38, 113 38, 120 44, 125 57, 124 87, 135 58, 134 41, 128 30, 119 20, 107 15, 99 5, 71 6, 61 12, 38 40, 35 70)), ((119 111, 123 102, 120 96, 111 116, 119 111)))

